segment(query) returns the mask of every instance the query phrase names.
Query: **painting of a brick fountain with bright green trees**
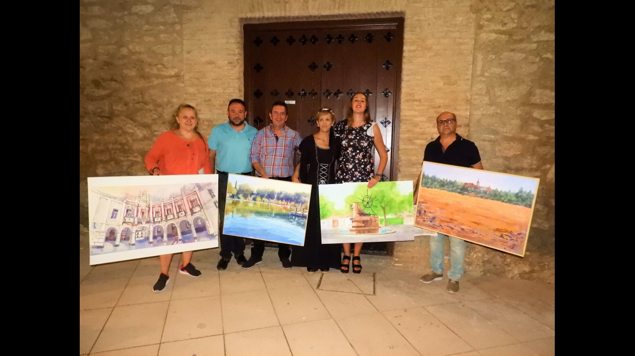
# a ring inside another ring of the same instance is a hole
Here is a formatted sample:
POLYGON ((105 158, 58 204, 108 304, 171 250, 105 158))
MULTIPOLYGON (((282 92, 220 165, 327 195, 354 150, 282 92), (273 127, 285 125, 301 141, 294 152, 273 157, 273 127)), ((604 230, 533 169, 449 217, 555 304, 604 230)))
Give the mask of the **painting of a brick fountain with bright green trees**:
POLYGON ((413 183, 380 181, 319 185, 323 244, 414 241, 413 183))

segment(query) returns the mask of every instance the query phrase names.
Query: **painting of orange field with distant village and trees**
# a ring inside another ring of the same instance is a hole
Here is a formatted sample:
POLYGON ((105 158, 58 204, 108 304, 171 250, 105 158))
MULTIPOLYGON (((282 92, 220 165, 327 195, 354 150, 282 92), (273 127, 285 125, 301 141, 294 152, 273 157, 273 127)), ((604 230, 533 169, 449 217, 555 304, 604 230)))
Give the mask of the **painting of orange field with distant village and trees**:
POLYGON ((415 226, 525 256, 538 182, 424 161, 415 226))

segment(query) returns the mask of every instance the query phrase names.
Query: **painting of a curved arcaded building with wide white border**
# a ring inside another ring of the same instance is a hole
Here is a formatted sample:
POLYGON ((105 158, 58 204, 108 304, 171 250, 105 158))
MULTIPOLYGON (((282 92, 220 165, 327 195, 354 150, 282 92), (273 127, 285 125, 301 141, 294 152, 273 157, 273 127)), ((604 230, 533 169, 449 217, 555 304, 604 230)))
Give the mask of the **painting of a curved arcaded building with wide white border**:
POLYGON ((218 247, 218 175, 88 178, 90 265, 218 247))

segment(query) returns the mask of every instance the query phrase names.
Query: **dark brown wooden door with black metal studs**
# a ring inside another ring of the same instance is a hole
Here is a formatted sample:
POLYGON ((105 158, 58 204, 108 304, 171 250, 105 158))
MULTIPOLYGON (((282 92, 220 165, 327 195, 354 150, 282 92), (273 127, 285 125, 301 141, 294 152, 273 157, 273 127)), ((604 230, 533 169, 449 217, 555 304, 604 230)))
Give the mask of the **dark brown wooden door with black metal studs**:
MULTIPOLYGON (((248 122, 271 123, 272 103, 288 105, 287 125, 303 138, 315 133, 315 114, 328 107, 345 119, 352 95, 366 93, 371 120, 387 148, 384 174, 396 177, 403 18, 246 24, 244 101, 248 122)), ((375 169, 379 155, 375 152, 375 169)), ((364 244, 385 251, 385 243, 364 244)))

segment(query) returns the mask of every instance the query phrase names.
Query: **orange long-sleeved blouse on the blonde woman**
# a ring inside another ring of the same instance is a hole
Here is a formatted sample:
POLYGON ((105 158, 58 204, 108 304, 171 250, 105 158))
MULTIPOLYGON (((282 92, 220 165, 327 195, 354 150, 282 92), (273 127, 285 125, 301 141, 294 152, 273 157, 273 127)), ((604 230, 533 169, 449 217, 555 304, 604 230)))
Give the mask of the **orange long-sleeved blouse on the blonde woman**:
MULTIPOLYGON (((197 135, 198 136, 198 135, 197 135)), ((145 169, 152 174, 152 169, 159 168, 161 175, 211 175, 210 155, 207 139, 199 137, 189 142, 178 137, 174 131, 165 131, 154 142, 150 152, 145 155, 145 169)))

